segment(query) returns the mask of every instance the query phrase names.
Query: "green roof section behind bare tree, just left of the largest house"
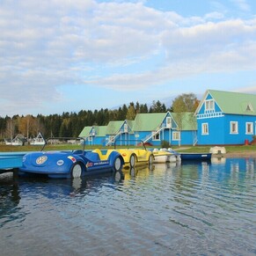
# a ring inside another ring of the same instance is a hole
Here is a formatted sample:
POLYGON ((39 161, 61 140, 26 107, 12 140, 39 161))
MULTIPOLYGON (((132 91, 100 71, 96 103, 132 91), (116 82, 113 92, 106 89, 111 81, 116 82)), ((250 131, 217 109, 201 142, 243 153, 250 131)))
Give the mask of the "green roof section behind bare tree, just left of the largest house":
POLYGON ((177 123, 179 130, 197 130, 197 122, 192 112, 172 113, 172 118, 177 123))

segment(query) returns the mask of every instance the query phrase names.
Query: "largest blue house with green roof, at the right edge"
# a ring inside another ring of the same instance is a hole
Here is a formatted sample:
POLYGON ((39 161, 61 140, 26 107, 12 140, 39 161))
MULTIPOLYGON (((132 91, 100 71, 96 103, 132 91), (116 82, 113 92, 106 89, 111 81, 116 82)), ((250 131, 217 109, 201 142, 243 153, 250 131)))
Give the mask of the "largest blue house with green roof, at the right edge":
POLYGON ((256 133, 256 95, 208 90, 195 112, 198 145, 236 145, 256 133))

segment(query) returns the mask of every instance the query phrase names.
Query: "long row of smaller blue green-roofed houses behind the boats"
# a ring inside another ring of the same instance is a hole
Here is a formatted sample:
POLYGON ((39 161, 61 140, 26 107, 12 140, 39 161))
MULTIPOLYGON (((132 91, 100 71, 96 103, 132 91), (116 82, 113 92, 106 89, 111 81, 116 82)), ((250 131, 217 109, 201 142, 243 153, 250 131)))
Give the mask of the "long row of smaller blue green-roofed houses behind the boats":
POLYGON ((137 113, 135 121, 109 121, 107 126, 84 127, 86 145, 111 146, 150 143, 160 146, 192 145, 196 141, 194 113, 137 113))

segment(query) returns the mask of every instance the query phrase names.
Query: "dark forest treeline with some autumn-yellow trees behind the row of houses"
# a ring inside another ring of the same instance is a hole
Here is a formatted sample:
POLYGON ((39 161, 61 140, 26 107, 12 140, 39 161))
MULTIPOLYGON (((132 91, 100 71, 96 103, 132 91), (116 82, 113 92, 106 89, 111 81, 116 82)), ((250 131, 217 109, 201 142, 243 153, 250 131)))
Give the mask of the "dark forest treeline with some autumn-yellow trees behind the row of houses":
POLYGON ((50 114, 47 116, 38 114, 37 116, 26 115, 13 117, 0 117, 0 139, 12 139, 18 134, 33 138, 39 132, 45 138, 55 137, 77 137, 85 126, 105 126, 109 121, 134 120, 136 113, 165 113, 165 104, 159 100, 153 101, 150 107, 147 104, 135 104, 131 102, 129 106, 125 104, 118 109, 81 110, 78 113, 50 114))

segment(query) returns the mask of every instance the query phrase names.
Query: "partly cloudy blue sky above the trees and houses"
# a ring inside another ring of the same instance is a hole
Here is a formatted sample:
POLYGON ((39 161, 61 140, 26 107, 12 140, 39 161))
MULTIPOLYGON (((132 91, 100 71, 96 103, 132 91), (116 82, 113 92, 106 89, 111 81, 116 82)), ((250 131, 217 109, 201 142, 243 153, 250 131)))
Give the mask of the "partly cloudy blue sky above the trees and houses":
POLYGON ((256 93, 255 0, 0 0, 0 116, 256 93))

